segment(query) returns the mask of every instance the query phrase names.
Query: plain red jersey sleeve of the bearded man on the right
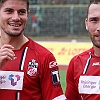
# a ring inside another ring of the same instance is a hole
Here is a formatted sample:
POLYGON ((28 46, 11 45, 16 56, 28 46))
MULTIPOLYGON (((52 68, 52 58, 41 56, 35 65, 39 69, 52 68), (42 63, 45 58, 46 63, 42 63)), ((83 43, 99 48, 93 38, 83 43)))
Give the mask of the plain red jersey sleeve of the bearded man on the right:
POLYGON ((74 58, 70 61, 66 74, 66 91, 67 100, 81 100, 77 87, 74 81, 74 58))

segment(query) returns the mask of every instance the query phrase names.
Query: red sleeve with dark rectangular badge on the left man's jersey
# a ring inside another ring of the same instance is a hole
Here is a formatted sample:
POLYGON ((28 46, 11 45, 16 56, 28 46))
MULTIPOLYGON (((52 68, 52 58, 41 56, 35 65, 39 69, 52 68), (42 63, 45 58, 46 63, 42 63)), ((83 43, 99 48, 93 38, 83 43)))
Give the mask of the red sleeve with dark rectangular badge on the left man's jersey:
POLYGON ((55 57, 50 54, 42 63, 42 78, 41 78, 41 90, 43 100, 66 100, 63 94, 58 64, 55 57))

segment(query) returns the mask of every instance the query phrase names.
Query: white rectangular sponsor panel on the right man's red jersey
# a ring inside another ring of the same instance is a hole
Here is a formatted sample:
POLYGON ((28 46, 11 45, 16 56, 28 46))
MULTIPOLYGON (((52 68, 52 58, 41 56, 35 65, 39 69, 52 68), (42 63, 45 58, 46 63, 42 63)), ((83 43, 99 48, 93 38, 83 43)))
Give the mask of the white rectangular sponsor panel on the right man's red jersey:
POLYGON ((80 76, 79 93, 100 94, 100 76, 80 76))

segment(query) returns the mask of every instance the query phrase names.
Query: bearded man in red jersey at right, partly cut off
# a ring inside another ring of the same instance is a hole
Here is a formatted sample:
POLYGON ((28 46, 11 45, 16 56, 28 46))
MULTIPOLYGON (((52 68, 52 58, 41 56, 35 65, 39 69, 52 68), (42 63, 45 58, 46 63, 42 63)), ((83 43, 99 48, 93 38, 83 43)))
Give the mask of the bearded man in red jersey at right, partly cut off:
POLYGON ((85 25, 93 47, 76 55, 69 63, 67 100, 100 99, 100 0, 90 0, 85 25))

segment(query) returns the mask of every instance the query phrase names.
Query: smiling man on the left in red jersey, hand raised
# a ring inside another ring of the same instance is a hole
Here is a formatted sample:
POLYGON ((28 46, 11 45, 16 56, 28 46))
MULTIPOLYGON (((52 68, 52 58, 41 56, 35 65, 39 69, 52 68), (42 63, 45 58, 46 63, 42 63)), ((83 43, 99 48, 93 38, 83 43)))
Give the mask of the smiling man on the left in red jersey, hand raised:
POLYGON ((56 59, 24 35, 28 0, 0 0, 0 100, 65 100, 56 59))

